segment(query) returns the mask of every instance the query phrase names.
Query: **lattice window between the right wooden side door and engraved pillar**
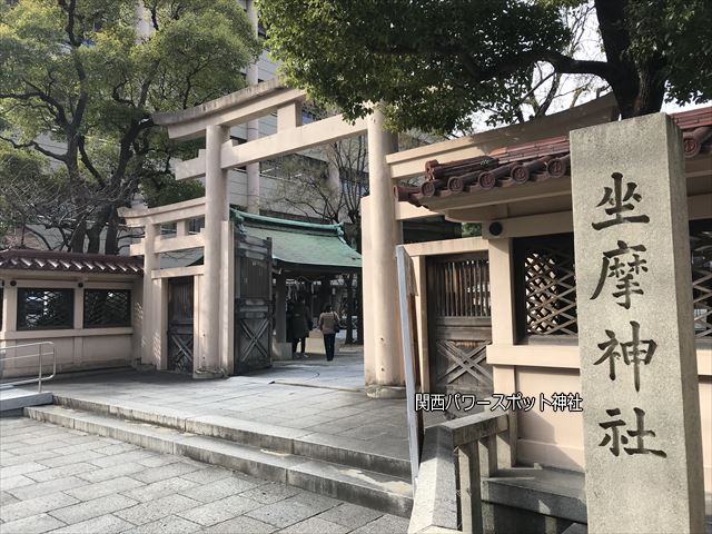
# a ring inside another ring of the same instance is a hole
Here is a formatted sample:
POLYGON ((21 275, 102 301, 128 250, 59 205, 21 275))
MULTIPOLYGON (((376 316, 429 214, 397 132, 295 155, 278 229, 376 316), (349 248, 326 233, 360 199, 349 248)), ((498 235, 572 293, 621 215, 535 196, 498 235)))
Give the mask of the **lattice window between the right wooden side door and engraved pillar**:
POLYGON ((515 250, 523 334, 577 335, 573 234, 517 239, 515 250))

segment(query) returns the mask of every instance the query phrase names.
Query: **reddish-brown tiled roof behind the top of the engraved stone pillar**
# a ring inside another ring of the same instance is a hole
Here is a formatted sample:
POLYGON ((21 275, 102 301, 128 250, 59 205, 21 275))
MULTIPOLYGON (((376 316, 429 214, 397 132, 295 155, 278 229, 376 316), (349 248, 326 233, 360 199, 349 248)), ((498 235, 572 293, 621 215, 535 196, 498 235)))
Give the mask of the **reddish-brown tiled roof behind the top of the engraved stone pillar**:
MULTIPOLYGON (((672 118, 683 130, 686 158, 712 151, 712 107, 683 111, 672 118)), ((487 156, 425 165, 426 180, 421 187, 396 186, 400 201, 427 205, 429 198, 476 194, 495 187, 568 177, 571 171, 568 137, 554 137, 501 148, 487 156)))

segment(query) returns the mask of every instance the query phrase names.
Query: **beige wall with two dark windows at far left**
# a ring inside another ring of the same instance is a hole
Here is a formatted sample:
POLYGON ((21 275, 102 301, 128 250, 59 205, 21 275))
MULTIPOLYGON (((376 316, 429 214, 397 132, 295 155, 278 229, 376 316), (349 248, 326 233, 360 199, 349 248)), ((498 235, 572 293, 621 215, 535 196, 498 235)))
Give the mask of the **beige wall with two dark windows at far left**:
POLYGON ((0 269, 0 379, 127 367, 139 354, 140 276, 0 269), (42 342, 49 342, 39 345, 42 342), (22 358, 16 358, 22 356, 22 358))

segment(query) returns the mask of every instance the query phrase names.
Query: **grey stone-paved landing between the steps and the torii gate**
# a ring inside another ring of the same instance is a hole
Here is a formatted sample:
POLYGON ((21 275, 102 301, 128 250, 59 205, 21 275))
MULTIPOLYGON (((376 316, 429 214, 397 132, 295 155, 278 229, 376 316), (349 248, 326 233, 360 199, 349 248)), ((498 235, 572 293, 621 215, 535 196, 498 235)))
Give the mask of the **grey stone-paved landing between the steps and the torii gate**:
MULTIPOLYGON (((354 448, 408 457, 405 399, 373 399, 363 390, 363 358, 337 356, 276 364, 249 376, 194 380, 160 372, 125 372, 53 380, 56 395, 181 417, 220 415, 299 428, 354 448)), ((426 413, 426 424, 442 414, 426 413)))

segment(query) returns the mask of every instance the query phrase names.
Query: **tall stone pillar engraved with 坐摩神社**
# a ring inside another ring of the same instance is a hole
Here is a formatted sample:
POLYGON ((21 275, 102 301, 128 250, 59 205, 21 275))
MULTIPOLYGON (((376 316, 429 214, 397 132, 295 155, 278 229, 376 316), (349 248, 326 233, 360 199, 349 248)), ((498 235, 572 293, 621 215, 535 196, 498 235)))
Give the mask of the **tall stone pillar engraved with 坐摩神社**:
POLYGON ((592 533, 703 532, 682 136, 664 113, 571 134, 592 533))

